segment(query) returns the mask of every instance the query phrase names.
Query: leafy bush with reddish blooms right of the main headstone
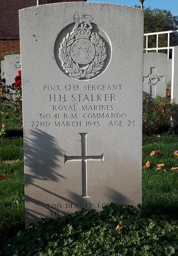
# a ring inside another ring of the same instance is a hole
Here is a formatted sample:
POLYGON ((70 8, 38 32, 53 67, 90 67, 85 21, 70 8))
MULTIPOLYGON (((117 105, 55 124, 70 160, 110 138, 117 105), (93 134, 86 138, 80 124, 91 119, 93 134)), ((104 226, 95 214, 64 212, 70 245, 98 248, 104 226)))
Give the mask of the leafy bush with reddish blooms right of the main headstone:
POLYGON ((170 118, 176 109, 169 97, 149 99, 143 95, 143 133, 152 135, 163 128, 170 128, 170 118))

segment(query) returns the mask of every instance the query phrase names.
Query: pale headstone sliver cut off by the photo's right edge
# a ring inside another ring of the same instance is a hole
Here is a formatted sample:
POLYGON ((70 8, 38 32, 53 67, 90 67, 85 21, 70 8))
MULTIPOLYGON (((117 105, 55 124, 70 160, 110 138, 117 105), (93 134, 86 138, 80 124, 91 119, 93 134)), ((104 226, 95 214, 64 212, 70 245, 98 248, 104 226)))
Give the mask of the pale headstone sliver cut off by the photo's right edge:
MULTIPOLYGON (((178 46, 172 49, 171 99, 178 105, 178 46)), ((172 116, 173 125, 178 125, 178 111, 172 116)))

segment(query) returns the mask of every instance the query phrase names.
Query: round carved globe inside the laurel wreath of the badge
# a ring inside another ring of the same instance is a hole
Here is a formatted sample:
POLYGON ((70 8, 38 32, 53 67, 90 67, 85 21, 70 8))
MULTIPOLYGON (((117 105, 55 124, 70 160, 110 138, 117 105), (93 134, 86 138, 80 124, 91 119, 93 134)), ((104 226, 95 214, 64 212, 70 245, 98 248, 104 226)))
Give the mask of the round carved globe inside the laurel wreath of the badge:
POLYGON ((70 55, 74 62, 86 65, 95 57, 95 46, 86 38, 76 40, 72 44, 70 55))

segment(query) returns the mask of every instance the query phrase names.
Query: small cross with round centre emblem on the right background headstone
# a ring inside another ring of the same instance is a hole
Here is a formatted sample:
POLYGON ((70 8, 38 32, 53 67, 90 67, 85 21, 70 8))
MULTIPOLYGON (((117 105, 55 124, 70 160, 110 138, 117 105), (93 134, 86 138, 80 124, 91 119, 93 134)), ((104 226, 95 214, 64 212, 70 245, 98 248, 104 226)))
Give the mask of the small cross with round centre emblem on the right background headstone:
POLYGON ((163 81, 164 77, 158 76, 158 74, 156 74, 156 67, 150 67, 150 74, 148 74, 148 76, 143 77, 143 82, 148 83, 150 85, 149 95, 151 98, 156 97, 156 84, 163 81))

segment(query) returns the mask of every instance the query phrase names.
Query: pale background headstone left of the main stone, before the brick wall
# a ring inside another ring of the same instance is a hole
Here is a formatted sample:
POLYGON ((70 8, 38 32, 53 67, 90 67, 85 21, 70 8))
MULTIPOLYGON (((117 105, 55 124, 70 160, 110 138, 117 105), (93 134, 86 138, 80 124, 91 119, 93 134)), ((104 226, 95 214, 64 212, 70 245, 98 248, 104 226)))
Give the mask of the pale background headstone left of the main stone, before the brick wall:
POLYGON ((12 86, 15 83, 15 77, 21 69, 20 54, 13 54, 5 56, 5 73, 6 85, 12 86))

